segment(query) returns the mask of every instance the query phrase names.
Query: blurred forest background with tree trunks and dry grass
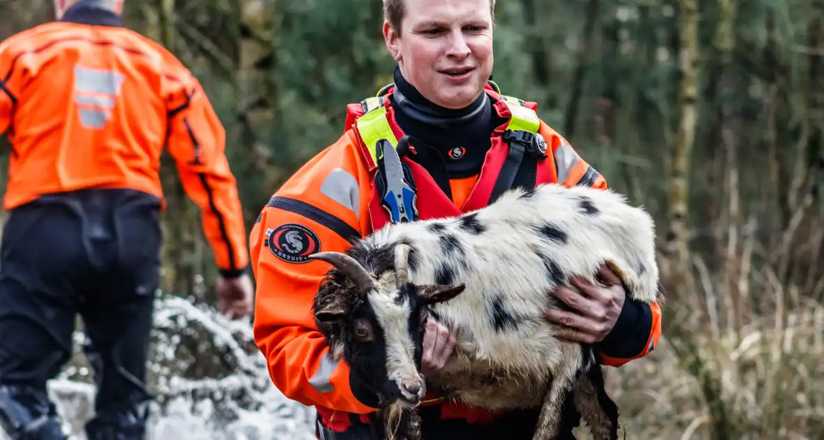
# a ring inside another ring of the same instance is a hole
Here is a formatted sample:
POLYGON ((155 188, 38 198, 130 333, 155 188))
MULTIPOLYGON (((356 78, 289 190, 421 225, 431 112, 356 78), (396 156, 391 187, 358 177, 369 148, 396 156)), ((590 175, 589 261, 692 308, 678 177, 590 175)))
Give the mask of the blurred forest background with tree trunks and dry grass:
MULTIPOLYGON (((52 2, 0 14, 5 38, 52 2)), ((824 438, 824 0, 501 0, 496 14, 503 93, 537 101, 658 220, 662 344, 608 371, 626 437, 824 438)), ((248 227, 343 132, 344 105, 391 82, 378 0, 132 1, 125 21, 203 83, 248 227)), ((164 294, 211 307, 199 213, 165 163, 164 294)), ((240 368, 192 328, 175 342, 184 366, 158 376, 240 368)))

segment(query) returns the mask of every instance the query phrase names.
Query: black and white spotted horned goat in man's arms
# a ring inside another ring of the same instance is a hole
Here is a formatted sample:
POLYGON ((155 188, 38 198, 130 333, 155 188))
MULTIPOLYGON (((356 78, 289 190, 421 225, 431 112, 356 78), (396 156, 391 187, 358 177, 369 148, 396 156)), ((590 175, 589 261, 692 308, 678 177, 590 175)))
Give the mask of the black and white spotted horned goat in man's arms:
POLYGON ((317 325, 332 356, 378 396, 390 438, 419 438, 412 409, 427 386, 489 410, 540 407, 535 439, 559 435, 572 399, 594 438, 617 438, 618 411, 594 348, 557 339, 544 316, 561 307, 551 299, 555 286, 571 275, 597 283, 604 262, 630 297, 663 299, 653 219, 622 195, 559 185, 512 190, 475 212, 391 225, 345 254, 313 258, 334 266, 315 297, 317 325), (456 348, 424 383, 430 314, 455 332, 456 348))

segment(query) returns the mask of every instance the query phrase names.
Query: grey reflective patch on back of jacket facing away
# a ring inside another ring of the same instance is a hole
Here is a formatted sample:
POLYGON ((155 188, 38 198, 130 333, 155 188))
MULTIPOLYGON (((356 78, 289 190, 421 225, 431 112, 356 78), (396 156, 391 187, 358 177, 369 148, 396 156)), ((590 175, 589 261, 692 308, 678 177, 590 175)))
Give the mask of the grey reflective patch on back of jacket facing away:
POLYGON ((84 105, 77 110, 84 127, 103 128, 115 107, 123 81, 124 76, 119 72, 74 67, 74 102, 84 105))

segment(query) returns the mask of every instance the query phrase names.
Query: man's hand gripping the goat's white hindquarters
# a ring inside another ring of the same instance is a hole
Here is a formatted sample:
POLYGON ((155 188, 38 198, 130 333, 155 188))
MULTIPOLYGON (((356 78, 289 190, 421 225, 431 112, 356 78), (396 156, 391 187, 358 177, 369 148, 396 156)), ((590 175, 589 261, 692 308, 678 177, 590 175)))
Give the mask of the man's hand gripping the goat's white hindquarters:
POLYGON ((606 338, 616 325, 626 300, 623 283, 606 264, 598 269, 598 279, 606 284, 606 288, 577 277, 571 279, 577 289, 566 286, 555 288, 552 294, 574 310, 546 311, 548 321, 561 325, 560 338, 596 344, 606 338))

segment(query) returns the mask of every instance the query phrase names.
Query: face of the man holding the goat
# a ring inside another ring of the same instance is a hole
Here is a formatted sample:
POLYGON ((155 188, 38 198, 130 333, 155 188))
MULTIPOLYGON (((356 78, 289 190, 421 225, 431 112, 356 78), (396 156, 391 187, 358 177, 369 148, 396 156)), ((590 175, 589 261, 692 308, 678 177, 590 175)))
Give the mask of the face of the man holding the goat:
POLYGON ((437 105, 470 105, 492 73, 489 0, 405 0, 405 7, 400 35, 383 26, 400 72, 437 105))

